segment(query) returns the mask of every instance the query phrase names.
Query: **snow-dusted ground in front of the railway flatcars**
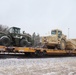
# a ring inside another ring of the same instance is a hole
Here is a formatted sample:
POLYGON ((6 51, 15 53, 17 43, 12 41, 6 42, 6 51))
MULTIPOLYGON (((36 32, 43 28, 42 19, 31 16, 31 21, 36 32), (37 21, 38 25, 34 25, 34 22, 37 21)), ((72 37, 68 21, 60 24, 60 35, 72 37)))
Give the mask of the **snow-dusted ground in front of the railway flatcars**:
POLYGON ((0 59, 0 75, 76 75, 76 57, 0 59))

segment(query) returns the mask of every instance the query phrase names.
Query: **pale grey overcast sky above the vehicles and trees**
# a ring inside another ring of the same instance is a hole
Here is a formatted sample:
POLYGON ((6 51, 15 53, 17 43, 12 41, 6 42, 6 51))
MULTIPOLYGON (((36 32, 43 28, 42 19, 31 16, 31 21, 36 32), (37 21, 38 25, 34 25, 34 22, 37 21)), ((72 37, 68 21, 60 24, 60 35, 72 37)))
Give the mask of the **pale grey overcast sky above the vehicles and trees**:
POLYGON ((61 29, 76 38, 76 0, 0 0, 0 24, 32 34, 61 29))

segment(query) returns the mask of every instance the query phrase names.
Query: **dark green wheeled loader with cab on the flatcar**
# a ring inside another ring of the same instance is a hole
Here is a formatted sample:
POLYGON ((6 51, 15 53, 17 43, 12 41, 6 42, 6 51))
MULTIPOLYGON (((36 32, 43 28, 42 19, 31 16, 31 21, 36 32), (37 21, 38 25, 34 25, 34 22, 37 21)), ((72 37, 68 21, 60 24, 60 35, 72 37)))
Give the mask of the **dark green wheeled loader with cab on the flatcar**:
POLYGON ((0 32, 0 45, 3 46, 30 46, 30 36, 21 34, 20 28, 11 27, 7 33, 0 32))

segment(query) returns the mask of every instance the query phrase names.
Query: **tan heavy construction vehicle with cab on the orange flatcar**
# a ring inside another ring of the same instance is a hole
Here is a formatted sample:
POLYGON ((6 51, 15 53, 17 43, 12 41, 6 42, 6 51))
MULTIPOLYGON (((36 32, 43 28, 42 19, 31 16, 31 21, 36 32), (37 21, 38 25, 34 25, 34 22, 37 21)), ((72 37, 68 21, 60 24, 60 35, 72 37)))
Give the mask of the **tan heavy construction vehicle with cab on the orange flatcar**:
POLYGON ((43 36, 41 38, 43 47, 61 49, 66 48, 66 36, 62 34, 61 30, 55 29, 51 31, 51 36, 43 36))

